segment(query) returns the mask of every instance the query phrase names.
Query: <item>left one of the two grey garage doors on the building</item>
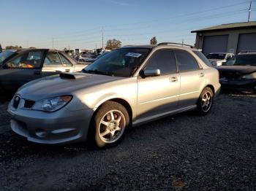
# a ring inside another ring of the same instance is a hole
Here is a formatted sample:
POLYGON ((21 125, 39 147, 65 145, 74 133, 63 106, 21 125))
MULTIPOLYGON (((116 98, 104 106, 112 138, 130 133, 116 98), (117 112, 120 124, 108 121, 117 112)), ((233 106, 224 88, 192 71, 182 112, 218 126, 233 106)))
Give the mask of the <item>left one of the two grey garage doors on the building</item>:
POLYGON ((227 52, 228 35, 204 36, 203 54, 208 55, 211 52, 227 52))

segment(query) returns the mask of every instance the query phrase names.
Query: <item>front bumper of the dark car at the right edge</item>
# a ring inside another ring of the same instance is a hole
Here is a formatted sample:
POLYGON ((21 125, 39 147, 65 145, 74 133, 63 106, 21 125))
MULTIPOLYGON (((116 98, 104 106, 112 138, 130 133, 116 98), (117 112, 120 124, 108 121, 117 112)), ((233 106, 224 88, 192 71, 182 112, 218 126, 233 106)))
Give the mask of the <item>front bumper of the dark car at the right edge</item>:
POLYGON ((223 89, 230 90, 256 90, 256 79, 219 79, 223 89))

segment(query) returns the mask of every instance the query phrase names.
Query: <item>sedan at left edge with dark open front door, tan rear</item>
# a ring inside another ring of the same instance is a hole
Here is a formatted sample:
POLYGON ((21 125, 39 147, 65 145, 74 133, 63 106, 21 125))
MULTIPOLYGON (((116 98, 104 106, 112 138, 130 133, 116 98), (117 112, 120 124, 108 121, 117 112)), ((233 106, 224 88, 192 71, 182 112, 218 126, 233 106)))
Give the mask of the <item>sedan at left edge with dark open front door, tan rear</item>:
POLYGON ((7 50, 1 53, 0 87, 15 91, 33 79, 61 72, 81 71, 87 63, 78 63, 66 53, 48 49, 7 50))

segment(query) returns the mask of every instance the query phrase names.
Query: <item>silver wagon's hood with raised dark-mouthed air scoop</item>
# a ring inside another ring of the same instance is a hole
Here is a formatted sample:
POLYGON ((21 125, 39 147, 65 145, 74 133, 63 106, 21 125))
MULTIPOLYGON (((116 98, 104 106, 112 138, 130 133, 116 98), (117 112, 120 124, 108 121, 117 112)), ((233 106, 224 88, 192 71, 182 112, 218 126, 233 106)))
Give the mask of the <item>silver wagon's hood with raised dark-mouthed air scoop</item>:
POLYGON ((102 85, 118 79, 123 79, 123 77, 85 74, 81 72, 68 74, 67 77, 55 75, 26 83, 20 87, 17 94, 22 98, 37 101, 59 95, 72 95, 77 90, 102 85))

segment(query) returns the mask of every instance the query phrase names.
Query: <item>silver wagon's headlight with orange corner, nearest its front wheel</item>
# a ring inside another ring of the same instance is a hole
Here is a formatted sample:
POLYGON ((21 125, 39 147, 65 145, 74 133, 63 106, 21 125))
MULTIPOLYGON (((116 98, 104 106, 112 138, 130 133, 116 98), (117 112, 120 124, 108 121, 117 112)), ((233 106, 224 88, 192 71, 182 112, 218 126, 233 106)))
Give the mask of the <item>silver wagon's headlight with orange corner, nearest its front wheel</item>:
POLYGON ((71 95, 63 95, 54 98, 42 99, 40 101, 37 101, 32 109, 45 112, 55 112, 56 110, 61 109, 62 107, 67 105, 69 101, 71 101, 71 99, 71 95))

